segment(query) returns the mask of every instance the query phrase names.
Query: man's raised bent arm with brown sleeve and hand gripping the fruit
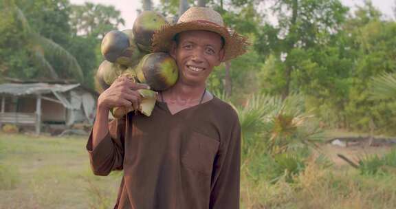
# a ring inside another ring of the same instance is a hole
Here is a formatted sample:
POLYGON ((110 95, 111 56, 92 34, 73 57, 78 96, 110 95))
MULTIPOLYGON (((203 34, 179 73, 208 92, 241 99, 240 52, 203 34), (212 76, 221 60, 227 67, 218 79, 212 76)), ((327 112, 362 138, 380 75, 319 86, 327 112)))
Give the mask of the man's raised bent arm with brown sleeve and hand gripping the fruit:
POLYGON ((139 107, 141 96, 137 89, 146 85, 120 77, 103 91, 98 98, 96 120, 87 143, 91 167, 95 175, 109 175, 111 170, 121 170, 124 159, 124 131, 126 118, 108 122, 109 110, 113 107, 139 107))

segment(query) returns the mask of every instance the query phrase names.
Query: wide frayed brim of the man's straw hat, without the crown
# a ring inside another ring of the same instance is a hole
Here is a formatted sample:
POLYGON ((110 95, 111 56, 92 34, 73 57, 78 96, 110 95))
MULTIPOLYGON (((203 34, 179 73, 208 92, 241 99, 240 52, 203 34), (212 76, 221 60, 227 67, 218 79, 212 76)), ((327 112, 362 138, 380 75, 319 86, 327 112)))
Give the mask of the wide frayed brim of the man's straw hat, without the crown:
POLYGON ((221 35, 224 39, 224 58, 229 61, 236 56, 245 54, 249 45, 247 39, 236 32, 221 27, 214 23, 204 21, 190 21, 176 23, 175 25, 164 25, 160 30, 153 34, 153 52, 169 52, 173 37, 180 33, 190 30, 206 30, 221 35))

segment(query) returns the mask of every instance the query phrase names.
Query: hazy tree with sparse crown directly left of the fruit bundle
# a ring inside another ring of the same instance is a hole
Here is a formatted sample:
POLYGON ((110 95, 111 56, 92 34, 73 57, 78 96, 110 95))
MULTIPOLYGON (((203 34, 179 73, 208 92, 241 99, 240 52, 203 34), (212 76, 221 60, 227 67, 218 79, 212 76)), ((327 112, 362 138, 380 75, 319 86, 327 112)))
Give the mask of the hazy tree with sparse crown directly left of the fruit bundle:
POLYGON ((111 5, 85 3, 71 5, 70 8, 72 36, 68 49, 82 66, 87 86, 94 88, 94 74, 103 60, 100 54, 101 39, 107 32, 124 25, 124 19, 120 17, 120 11, 111 5))

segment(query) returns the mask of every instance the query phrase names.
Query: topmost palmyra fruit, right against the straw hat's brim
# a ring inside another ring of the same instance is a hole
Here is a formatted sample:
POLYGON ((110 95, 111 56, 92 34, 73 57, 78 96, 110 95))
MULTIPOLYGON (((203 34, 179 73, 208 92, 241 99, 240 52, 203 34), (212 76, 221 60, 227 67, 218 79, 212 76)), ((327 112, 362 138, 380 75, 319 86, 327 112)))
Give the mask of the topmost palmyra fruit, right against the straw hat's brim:
POLYGON ((144 11, 139 14, 133 23, 132 30, 140 50, 151 52, 151 39, 153 39, 155 30, 159 30, 166 23, 166 19, 157 12, 144 11))

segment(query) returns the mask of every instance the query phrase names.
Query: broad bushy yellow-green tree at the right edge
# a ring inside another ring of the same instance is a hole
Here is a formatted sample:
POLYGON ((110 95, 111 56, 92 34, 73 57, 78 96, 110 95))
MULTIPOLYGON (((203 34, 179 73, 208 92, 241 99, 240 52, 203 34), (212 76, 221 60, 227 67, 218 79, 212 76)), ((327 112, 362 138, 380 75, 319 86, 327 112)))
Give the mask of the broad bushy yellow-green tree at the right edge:
POLYGON ((293 61, 293 77, 307 95, 308 107, 327 124, 344 129, 391 131, 395 102, 372 100, 372 78, 395 72, 395 22, 382 21, 370 1, 342 24, 327 45, 318 45, 293 61))

